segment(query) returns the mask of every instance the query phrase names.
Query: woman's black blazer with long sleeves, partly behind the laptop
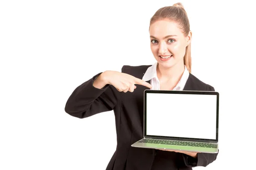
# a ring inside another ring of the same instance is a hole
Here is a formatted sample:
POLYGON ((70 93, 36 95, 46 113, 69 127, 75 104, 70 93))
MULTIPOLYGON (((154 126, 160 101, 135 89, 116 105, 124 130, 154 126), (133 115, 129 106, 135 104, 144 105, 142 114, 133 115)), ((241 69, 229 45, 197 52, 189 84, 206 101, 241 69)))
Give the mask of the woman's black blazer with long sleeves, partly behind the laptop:
MULTIPOLYGON (((124 65, 122 72, 142 79, 150 66, 124 65)), ((73 91, 67 100, 65 112, 71 116, 86 118, 113 110, 117 146, 106 170, 191 170, 192 167, 205 167, 215 161, 218 153, 198 153, 198 158, 194 159, 183 153, 131 147, 131 144, 143 138, 143 96, 144 90, 148 88, 136 85, 133 93, 119 92, 112 85, 98 89, 93 86, 93 80, 99 74, 73 91)), ((183 90, 215 91, 212 86, 192 74, 189 74, 183 90)))

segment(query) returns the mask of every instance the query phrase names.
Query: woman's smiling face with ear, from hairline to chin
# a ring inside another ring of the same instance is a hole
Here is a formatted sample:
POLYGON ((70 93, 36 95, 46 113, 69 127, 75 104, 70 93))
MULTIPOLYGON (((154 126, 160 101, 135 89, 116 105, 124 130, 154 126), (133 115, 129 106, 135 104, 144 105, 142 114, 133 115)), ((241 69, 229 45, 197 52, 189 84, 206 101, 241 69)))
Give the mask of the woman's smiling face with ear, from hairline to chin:
POLYGON ((175 22, 159 20, 150 26, 149 33, 151 51, 159 65, 164 68, 184 65, 183 57, 191 40, 191 32, 185 37, 175 22))

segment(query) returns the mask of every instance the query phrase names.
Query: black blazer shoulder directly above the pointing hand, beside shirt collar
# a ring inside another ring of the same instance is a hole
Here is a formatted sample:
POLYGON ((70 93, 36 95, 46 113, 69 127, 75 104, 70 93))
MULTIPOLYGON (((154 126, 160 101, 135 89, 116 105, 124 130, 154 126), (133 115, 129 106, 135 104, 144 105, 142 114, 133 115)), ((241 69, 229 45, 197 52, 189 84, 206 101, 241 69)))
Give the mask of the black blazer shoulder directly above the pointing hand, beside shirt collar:
POLYGON ((152 65, 123 65, 122 73, 142 78, 147 69, 151 66, 152 65))

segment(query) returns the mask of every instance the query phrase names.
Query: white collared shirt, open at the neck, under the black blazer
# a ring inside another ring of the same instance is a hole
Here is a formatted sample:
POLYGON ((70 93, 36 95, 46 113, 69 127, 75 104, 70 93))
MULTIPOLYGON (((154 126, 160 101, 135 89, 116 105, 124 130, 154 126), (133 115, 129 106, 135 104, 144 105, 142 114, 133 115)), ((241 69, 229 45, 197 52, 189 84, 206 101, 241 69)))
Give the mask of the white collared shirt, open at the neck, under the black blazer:
MULTIPOLYGON (((184 65, 184 67, 185 67, 185 70, 183 72, 183 75, 180 81, 178 82, 178 84, 175 86, 175 88, 173 88, 173 90, 182 91, 183 88, 185 87, 186 81, 189 78, 189 71, 186 68, 186 65, 184 65)), ((157 62, 147 69, 142 79, 144 81, 151 80, 150 81, 150 84, 152 85, 151 90, 160 90, 160 81, 157 77, 157 62)))

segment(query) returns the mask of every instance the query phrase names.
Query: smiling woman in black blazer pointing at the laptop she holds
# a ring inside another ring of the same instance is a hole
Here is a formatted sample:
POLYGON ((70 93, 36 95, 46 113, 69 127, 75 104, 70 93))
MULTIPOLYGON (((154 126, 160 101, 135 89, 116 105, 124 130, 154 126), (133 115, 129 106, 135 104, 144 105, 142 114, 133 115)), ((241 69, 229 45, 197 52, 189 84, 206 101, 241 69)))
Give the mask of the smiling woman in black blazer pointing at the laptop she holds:
POLYGON ((157 61, 154 65, 124 65, 122 72, 104 71, 95 75, 73 91, 65 111, 78 118, 114 111, 117 147, 107 170, 191 170, 207 166, 217 153, 131 147, 143 138, 146 89, 214 91, 191 74, 192 33, 180 3, 160 8, 151 18, 149 32, 151 51, 157 61))

